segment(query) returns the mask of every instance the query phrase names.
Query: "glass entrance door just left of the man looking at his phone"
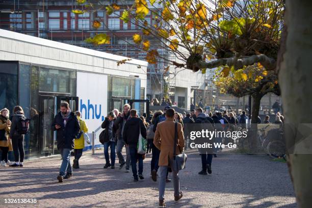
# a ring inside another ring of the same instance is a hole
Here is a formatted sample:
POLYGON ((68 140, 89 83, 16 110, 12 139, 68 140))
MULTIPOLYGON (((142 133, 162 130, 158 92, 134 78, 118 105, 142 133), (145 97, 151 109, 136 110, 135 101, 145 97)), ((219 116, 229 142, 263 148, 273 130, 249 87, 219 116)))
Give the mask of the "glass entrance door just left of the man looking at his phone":
POLYGON ((54 131, 52 123, 55 116, 55 96, 40 96, 39 113, 39 157, 54 153, 54 131))

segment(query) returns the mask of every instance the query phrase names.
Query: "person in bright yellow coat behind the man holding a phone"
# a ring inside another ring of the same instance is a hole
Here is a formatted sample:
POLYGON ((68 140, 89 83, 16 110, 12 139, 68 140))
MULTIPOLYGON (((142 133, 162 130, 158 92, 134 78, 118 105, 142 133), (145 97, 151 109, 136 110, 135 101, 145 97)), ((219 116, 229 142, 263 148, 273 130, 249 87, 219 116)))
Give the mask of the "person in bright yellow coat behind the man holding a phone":
POLYGON ((83 148, 85 147, 85 139, 86 142, 88 144, 90 144, 89 138, 85 138, 84 134, 88 132, 88 127, 86 125, 86 122, 84 120, 81 119, 81 113, 79 111, 75 112, 75 115, 77 116, 77 119, 79 120, 80 123, 80 134, 78 135, 78 137, 80 136, 80 138, 75 139, 74 144, 74 155, 75 155, 75 159, 73 161, 73 165, 72 167, 77 169, 79 168, 79 159, 82 157, 82 152, 83 152, 83 148))

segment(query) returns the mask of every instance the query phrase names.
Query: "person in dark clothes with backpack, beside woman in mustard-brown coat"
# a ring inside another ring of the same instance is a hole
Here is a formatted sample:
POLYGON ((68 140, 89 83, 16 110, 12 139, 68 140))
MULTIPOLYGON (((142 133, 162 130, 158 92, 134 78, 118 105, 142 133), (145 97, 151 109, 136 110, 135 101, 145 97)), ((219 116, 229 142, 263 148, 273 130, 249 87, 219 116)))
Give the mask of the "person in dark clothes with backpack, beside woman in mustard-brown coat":
POLYGON ((29 120, 24 116, 22 107, 13 108, 13 118, 10 129, 10 138, 14 151, 15 163, 10 167, 23 167, 24 161, 24 135, 29 131, 29 120))

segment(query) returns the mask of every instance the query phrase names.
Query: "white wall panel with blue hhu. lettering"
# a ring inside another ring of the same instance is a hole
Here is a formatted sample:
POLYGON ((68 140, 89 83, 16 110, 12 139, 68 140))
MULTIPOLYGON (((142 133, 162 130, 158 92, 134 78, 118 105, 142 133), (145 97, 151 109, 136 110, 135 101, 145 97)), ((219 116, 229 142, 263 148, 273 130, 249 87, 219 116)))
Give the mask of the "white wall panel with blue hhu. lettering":
MULTIPOLYGON (((79 111, 81 118, 89 128, 88 135, 92 140, 92 132, 96 133, 95 145, 101 145, 98 140, 101 133, 101 124, 107 115, 107 87, 108 76, 77 72, 77 96, 79 97, 79 111)), ((91 143, 92 144, 92 143, 91 143)), ((86 149, 90 149, 90 146, 86 149)))

